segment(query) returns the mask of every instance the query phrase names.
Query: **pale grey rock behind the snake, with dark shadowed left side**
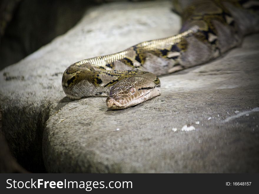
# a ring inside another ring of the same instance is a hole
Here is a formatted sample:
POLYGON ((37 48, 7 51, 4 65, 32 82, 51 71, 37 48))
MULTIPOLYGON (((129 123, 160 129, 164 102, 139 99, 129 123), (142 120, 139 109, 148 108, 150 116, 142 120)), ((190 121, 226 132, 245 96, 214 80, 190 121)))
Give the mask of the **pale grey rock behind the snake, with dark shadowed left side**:
POLYGON ((117 2, 89 9, 66 34, 0 72, 2 130, 23 167, 44 172, 45 122, 70 102, 61 86, 65 69, 85 58, 176 34, 180 18, 170 8, 168 1, 154 1, 117 2))

